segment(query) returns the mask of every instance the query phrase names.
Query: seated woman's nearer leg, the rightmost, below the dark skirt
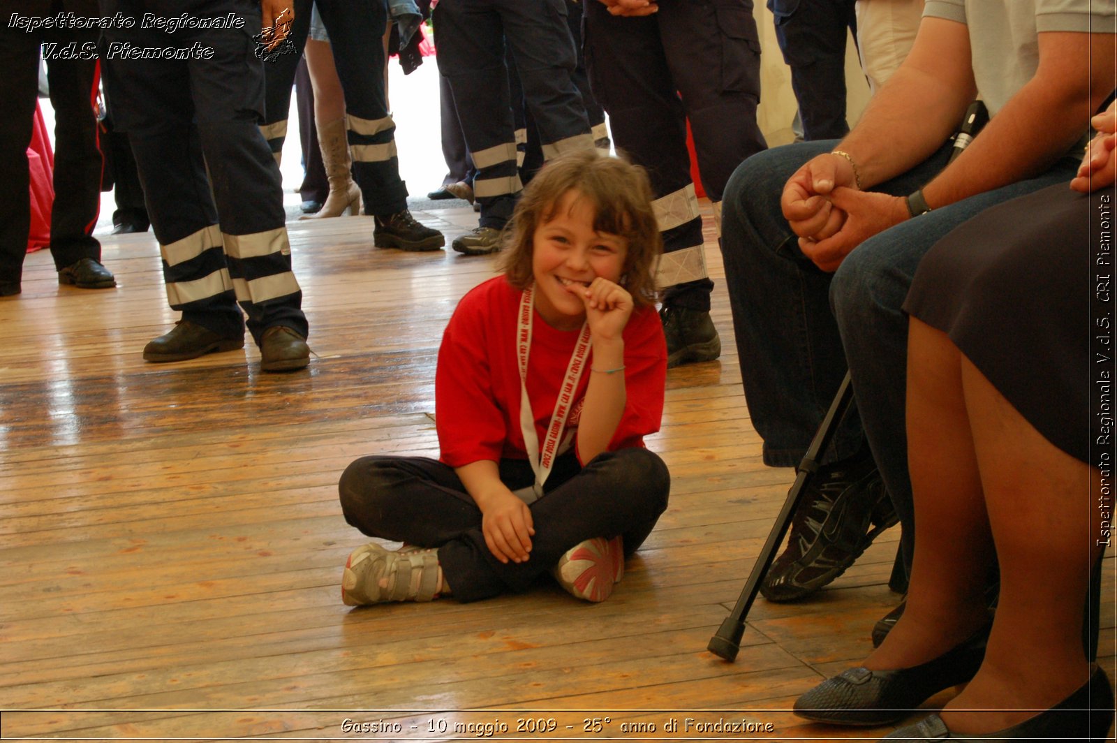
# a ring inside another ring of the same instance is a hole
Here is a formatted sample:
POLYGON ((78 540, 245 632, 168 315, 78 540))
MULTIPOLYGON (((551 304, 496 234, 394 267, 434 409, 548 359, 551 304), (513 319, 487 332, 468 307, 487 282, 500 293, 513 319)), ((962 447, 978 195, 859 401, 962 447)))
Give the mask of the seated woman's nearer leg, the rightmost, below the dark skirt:
POLYGON ((1058 704, 1089 678, 1082 620, 1104 549, 1090 499, 1099 476, 1043 438, 965 356, 962 383, 1001 596, 985 661, 943 720, 954 732, 987 733, 1058 704))

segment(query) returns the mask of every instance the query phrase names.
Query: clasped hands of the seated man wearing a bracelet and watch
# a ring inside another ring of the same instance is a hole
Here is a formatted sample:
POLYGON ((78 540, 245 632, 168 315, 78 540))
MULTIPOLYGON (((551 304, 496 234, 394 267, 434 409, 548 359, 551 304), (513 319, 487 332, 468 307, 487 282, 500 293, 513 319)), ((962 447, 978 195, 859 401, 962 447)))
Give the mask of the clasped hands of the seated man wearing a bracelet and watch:
POLYGON ((904 200, 859 191, 844 158, 821 154, 787 179, 780 208, 799 248, 821 270, 832 273, 850 251, 908 217, 904 200))

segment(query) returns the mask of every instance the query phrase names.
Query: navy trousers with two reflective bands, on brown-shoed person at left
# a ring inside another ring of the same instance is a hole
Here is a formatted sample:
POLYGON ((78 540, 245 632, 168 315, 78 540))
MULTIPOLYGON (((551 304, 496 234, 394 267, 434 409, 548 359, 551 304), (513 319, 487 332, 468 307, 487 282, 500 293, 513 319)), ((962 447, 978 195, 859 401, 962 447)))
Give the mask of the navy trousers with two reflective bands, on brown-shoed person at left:
POLYGON ((103 0, 102 11, 198 18, 233 13, 241 28, 106 30, 101 44, 116 126, 127 131, 171 307, 228 337, 259 344, 274 325, 304 337, 279 168, 260 134, 264 61, 252 0, 103 0), (188 59, 130 58, 132 48, 190 49, 188 59), (207 168, 209 177, 207 178, 207 168), (211 197, 212 187, 212 197, 211 197), (217 200, 214 204, 214 198, 217 200))

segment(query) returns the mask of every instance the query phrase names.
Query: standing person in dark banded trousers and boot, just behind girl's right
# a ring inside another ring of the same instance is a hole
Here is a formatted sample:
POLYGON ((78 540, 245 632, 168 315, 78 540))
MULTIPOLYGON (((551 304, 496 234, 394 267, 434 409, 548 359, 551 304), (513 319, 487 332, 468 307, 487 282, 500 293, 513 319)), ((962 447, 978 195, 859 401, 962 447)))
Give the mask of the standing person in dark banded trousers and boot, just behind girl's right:
POLYGON ((766 144, 756 124, 760 39, 752 0, 592 0, 585 3, 591 86, 613 144, 648 170, 663 237, 659 285, 667 365, 713 361, 701 213, 690 180, 687 121, 703 187, 720 201, 737 166, 766 144))

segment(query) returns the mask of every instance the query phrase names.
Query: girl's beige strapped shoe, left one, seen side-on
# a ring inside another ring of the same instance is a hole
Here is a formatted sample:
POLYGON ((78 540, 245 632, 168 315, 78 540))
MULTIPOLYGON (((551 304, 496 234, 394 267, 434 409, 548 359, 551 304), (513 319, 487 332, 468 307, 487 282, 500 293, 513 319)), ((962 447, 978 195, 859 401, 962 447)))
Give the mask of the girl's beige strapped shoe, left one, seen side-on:
POLYGON ((350 553, 342 571, 342 601, 350 607, 385 601, 430 601, 442 587, 438 550, 397 552, 365 544, 350 553))

